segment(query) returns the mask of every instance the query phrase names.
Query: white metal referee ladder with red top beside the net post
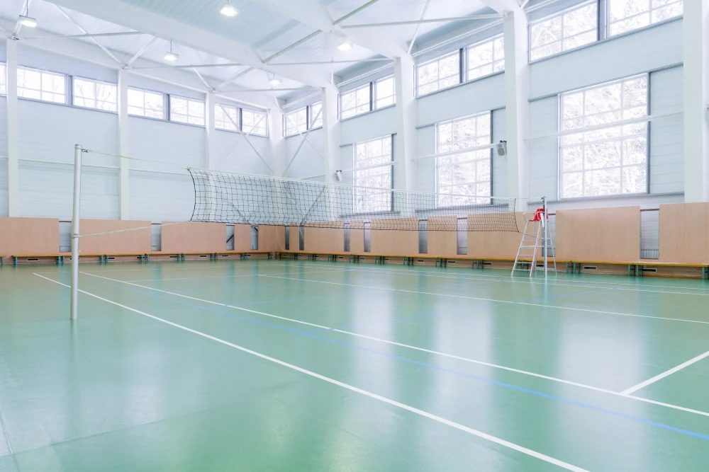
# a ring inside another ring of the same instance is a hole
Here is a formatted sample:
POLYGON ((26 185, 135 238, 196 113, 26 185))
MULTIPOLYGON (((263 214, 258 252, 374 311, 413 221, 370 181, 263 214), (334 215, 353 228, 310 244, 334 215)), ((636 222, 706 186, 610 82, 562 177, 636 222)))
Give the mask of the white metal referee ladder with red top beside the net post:
POLYGON ((554 256, 554 243, 549 229, 549 217, 544 208, 537 209, 536 212, 525 213, 525 231, 522 234, 520 248, 517 251, 515 264, 512 266, 512 275, 515 272, 525 272, 529 270, 530 277, 534 275, 537 267, 537 260, 542 259, 544 263, 544 275, 548 270, 557 271, 557 258, 554 256), (549 257, 552 258, 554 267, 549 267, 549 257))

